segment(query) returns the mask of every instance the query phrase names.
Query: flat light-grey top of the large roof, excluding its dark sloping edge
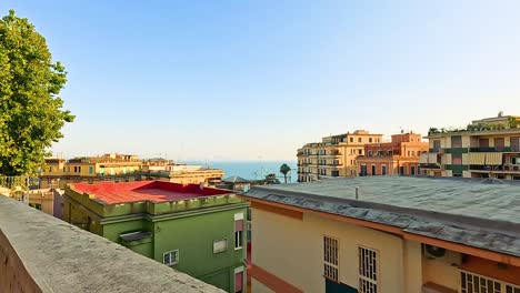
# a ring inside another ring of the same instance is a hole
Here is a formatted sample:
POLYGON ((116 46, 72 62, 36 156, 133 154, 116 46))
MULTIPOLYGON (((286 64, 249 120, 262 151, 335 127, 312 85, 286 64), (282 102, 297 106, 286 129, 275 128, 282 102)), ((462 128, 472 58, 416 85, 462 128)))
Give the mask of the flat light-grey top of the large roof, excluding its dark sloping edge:
POLYGON ((268 189, 520 223, 520 184, 412 176, 330 179, 268 189))

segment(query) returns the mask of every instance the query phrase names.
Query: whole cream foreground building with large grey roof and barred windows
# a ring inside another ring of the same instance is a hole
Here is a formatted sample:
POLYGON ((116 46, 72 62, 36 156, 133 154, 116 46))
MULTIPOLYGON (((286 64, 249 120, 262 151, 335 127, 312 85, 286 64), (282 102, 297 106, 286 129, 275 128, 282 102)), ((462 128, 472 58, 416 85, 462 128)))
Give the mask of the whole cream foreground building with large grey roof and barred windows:
POLYGON ((252 188, 252 292, 520 292, 520 185, 473 181, 252 188))

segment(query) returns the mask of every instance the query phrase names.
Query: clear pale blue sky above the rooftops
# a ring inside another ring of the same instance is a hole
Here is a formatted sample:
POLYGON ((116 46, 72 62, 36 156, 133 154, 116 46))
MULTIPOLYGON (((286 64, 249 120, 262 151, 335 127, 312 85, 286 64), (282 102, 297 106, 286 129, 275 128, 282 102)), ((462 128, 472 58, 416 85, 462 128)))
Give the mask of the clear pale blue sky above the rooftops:
POLYGON ((354 129, 520 115, 520 1, 2 0, 47 38, 64 156, 296 160, 354 129))

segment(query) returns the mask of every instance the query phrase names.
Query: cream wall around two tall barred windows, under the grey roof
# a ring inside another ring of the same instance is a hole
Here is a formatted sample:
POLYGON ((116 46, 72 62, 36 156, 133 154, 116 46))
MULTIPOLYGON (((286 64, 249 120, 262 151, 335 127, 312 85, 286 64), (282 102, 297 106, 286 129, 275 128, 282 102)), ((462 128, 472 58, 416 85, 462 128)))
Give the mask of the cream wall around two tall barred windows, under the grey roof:
MULTIPOLYGON (((380 290, 403 293, 403 241, 394 235, 304 213, 303 221, 253 209, 252 262, 304 292, 324 292, 323 235, 339 239, 340 282, 358 287, 358 245, 379 251, 380 290)), ((407 252, 416 279, 420 250, 407 252)), ((421 282, 421 281, 417 281, 421 282)), ((412 290, 416 285, 411 285, 412 290)), ((254 290, 253 290, 254 291, 254 290)), ((257 292, 257 291, 254 291, 257 292)), ((409 293, 417 291, 409 291, 409 293)), ((407 292, 408 293, 408 292, 407 292)))

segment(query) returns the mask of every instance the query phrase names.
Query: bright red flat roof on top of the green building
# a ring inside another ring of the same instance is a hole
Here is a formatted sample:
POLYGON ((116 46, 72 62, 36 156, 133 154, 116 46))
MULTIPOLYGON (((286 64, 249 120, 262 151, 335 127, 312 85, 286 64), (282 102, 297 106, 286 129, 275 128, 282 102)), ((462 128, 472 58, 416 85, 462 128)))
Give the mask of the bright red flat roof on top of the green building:
POLYGON ((74 183, 71 189, 93 194, 108 204, 138 201, 177 201, 230 193, 227 190, 204 188, 199 184, 178 184, 164 181, 101 182, 96 184, 74 183))

